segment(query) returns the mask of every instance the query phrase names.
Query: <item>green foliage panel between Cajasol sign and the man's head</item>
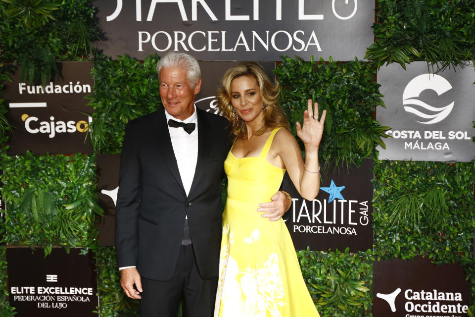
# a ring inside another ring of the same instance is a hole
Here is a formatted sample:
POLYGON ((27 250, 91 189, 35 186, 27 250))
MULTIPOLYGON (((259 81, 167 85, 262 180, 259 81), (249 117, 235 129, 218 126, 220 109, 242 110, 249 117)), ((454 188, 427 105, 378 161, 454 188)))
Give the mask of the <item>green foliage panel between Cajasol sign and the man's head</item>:
POLYGON ((94 94, 88 104, 95 111, 91 139, 96 153, 119 154, 126 123, 161 105, 155 69, 158 59, 152 55, 141 63, 127 55, 117 60, 96 55, 91 72, 94 94))

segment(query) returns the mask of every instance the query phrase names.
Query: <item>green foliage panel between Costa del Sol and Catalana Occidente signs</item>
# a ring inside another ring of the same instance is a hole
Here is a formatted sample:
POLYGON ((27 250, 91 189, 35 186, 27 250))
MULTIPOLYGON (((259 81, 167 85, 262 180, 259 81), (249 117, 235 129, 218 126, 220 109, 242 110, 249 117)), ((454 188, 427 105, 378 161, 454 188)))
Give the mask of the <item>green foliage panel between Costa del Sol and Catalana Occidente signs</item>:
POLYGON ((374 167, 374 256, 459 262, 475 303, 475 160, 380 161, 374 167))

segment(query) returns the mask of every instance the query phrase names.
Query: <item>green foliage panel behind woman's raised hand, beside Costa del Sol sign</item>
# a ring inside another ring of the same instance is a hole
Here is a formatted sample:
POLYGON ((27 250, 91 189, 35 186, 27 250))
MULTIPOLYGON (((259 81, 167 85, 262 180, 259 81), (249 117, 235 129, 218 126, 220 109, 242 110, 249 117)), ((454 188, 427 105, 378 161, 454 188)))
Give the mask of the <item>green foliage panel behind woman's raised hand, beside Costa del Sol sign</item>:
MULTIPOLYGON (((319 112, 327 110, 325 134, 319 152, 323 164, 331 161, 359 166, 364 158, 377 158, 376 145, 384 147, 381 137, 387 137, 373 117, 377 106, 383 106, 376 69, 359 60, 337 63, 313 59, 284 57, 275 71, 283 86, 281 106, 295 123, 302 122, 309 98, 318 101, 319 112)), ((298 139, 298 138, 297 138, 298 139)))

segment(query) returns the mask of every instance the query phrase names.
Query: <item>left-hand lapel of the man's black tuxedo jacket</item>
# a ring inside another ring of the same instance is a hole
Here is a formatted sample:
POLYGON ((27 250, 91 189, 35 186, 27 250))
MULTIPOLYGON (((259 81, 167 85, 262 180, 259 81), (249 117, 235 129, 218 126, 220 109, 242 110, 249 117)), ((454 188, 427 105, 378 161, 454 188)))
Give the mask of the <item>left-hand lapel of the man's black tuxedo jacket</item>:
MULTIPOLYGON (((156 116, 156 122, 154 126, 155 140, 157 140, 158 149, 162 153, 163 158, 165 159, 170 171, 175 177, 177 183, 185 192, 183 187, 182 178, 180 177, 180 171, 178 169, 177 159, 175 158, 175 153, 173 152, 172 140, 170 138, 170 131, 168 130, 167 120, 165 117, 165 109, 159 109, 156 116)), ((199 130, 198 130, 199 131, 199 130)), ((198 136, 199 138, 199 136, 198 136)), ((199 144, 199 143, 198 143, 199 144)))

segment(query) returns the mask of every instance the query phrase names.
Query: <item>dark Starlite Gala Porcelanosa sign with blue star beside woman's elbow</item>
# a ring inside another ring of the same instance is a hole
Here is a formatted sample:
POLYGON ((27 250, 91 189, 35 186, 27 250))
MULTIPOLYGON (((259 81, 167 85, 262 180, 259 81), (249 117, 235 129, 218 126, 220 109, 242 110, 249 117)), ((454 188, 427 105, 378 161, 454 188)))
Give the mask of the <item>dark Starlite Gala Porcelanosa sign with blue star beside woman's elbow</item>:
POLYGON ((360 168, 346 167, 322 171, 320 192, 316 199, 301 198, 286 175, 283 190, 292 196, 286 225, 297 250, 327 251, 329 248, 350 251, 368 250, 373 245, 373 167, 366 159, 360 168))

